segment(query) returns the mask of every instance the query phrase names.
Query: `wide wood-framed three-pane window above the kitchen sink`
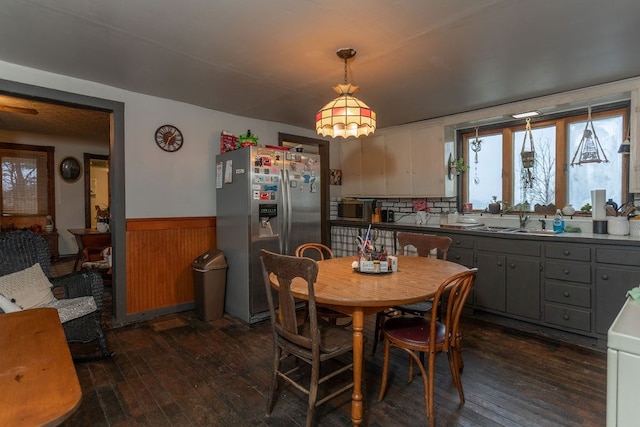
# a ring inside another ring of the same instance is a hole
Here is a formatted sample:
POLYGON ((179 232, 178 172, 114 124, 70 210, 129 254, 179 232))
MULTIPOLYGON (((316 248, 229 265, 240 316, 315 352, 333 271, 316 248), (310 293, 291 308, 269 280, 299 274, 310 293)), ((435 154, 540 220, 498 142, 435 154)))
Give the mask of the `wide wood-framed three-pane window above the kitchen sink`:
POLYGON ((536 206, 548 211, 566 204, 579 210, 591 202, 591 190, 600 188, 607 191, 607 198, 626 202, 628 162, 618 154, 618 147, 626 134, 628 114, 628 107, 619 105, 592 113, 602 163, 571 166, 580 158, 576 150, 585 134, 586 114, 532 121, 535 156, 530 168, 523 167, 522 161, 522 152, 532 151, 524 123, 479 132, 479 150, 472 144, 475 129, 463 133, 462 152, 470 169, 463 176, 461 202, 484 209, 495 196, 516 211, 534 211, 536 206))

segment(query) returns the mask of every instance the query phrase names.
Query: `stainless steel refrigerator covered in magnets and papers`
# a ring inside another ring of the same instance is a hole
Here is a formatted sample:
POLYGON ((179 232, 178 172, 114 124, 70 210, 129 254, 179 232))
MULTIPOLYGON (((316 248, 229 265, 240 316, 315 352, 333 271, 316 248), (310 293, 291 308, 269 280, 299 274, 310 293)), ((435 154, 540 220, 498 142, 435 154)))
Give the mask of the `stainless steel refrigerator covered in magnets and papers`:
POLYGON ((293 255, 320 242, 320 156, 245 147, 216 157, 216 236, 226 256, 225 311, 248 323, 269 316, 260 249, 293 255))

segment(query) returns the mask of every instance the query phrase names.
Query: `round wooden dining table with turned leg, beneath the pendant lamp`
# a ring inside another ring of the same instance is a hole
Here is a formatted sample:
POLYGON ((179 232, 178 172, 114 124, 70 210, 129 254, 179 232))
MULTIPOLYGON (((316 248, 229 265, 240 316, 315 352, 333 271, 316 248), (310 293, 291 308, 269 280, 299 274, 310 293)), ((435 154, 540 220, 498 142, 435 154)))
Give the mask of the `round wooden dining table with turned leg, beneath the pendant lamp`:
MULTIPOLYGON (((353 261, 353 257, 344 257, 318 262, 315 295, 317 303, 353 318, 351 421, 353 425, 360 425, 363 417, 364 316, 394 305, 430 298, 444 280, 467 268, 435 258, 399 256, 396 273, 365 274, 353 271, 353 261)), ((292 291, 296 297, 307 299, 306 284, 294 282, 292 291)))

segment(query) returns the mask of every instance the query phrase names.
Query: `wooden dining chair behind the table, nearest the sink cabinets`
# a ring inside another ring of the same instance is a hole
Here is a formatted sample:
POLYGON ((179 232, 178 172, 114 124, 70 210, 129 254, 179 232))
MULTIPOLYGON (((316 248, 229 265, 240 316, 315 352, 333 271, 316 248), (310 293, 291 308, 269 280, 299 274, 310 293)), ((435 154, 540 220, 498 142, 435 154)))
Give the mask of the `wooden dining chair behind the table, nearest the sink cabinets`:
MULTIPOLYGON (((451 246, 451 238, 447 236, 436 236, 434 234, 417 234, 417 233, 398 233, 398 254, 405 255, 411 247, 417 251, 418 256, 430 257, 435 250, 436 257, 446 260, 447 252, 451 246)), ((413 304, 404 304, 391 307, 387 310, 380 311, 376 314, 376 324, 374 332, 373 349, 371 354, 375 354, 378 347, 378 341, 382 341, 381 328, 385 320, 393 316, 396 312, 402 314, 415 314, 423 316, 431 311, 433 307, 432 301, 420 301, 413 304)))

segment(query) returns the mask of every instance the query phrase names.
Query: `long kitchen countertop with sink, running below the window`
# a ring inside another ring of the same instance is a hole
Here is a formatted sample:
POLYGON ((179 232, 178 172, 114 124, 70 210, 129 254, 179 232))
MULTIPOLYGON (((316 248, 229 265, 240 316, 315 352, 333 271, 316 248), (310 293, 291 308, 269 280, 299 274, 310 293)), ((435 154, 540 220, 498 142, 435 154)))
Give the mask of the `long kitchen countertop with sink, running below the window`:
MULTIPOLYGON (((473 236, 484 236, 484 237, 495 237, 501 239, 522 239, 522 240, 544 240, 544 241, 561 241, 561 242, 581 242, 581 243, 600 243, 600 244, 617 244, 617 245, 640 245, 640 236, 618 236, 612 234, 594 234, 592 232, 581 232, 581 233, 558 233, 555 235, 536 235, 536 234, 518 234, 518 233, 495 233, 495 232, 486 232, 486 231, 474 231, 471 228, 467 227, 466 229, 452 229, 452 228, 441 228, 440 227, 440 217, 435 215, 432 216, 427 224, 415 224, 413 222, 413 216, 408 216, 405 221, 399 222, 383 222, 378 224, 372 224, 374 228, 378 228, 381 230, 396 230, 396 231, 436 231, 442 230, 451 234, 462 234, 462 235, 473 235, 473 236)), ((404 218, 403 218, 404 219, 404 218)), ((518 217, 513 216, 513 218, 503 218, 499 215, 495 215, 493 217, 482 217, 477 218, 478 224, 475 226, 479 227, 481 224, 488 226, 504 226, 504 227, 518 227, 518 217)), ((551 228, 552 218, 545 219, 548 224, 548 229, 551 228)), ((529 221, 530 224, 538 225, 538 218, 532 218, 529 221)), ((567 225, 577 225, 581 229, 589 229, 592 228, 591 220, 568 220, 565 221, 567 225)), ((329 224, 332 226, 339 227, 368 227, 368 222, 359 222, 359 221, 345 221, 345 220, 331 220, 329 224)), ((464 224, 465 226, 469 226, 469 224, 464 224)), ((533 228, 527 227, 528 229, 535 230, 533 228)), ((538 228, 537 230, 540 230, 538 228)))

